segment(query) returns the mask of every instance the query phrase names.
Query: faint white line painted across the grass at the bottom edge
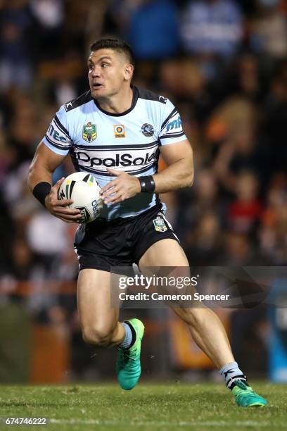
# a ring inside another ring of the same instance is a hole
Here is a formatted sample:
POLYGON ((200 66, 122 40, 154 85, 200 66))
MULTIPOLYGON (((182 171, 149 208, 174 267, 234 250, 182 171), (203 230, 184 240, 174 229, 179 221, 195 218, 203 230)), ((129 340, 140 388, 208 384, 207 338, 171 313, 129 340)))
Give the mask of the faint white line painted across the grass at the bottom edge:
MULTIPOLYGON (((165 426, 165 427, 227 427, 231 425, 231 422, 160 422, 160 421, 146 421, 146 422, 120 422, 118 420, 97 420, 97 419, 49 419, 48 423, 57 424, 69 424, 69 425, 122 425, 122 426, 133 426, 133 427, 143 427, 143 426, 165 426)), ((271 424, 264 422, 256 422, 255 420, 243 420, 238 422, 232 422, 233 427, 269 427, 271 424)), ((286 427, 286 425, 276 425, 277 427, 286 427)))

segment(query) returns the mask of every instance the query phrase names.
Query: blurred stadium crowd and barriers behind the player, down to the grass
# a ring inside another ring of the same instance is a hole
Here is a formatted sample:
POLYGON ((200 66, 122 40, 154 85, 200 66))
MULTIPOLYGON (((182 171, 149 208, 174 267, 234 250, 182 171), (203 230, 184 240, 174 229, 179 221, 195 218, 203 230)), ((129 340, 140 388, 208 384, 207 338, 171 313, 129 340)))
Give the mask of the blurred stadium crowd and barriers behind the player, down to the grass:
MULTIPOLYGON (((276 0, 0 0, 0 382, 115 377, 115 351, 79 332, 77 226, 26 185, 53 113, 88 88, 88 46, 101 35, 132 44, 134 83, 168 96, 184 120, 195 184, 162 200, 191 265, 286 265, 286 15, 276 0)), ((219 313, 241 367, 267 377, 267 309, 219 313)), ((217 378, 172 313, 137 314, 144 377, 217 378)))

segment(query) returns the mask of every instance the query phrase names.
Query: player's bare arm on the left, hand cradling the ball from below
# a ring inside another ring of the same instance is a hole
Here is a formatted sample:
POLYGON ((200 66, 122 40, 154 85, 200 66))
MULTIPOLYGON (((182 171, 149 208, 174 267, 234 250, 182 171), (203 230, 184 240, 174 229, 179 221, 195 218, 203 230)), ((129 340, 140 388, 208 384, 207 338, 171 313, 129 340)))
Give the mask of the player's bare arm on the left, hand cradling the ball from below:
POLYGON ((52 175, 54 170, 63 163, 66 156, 51 151, 44 142, 41 142, 34 154, 28 175, 28 187, 34 196, 42 193, 42 204, 55 217, 68 223, 75 223, 79 219, 80 211, 67 208, 72 204, 71 199, 58 199, 58 189, 64 178, 61 178, 52 187, 52 175), (35 189, 36 187, 36 189, 35 189), (37 192, 35 192, 37 190, 37 192), (43 195, 46 193, 46 196, 43 195))

